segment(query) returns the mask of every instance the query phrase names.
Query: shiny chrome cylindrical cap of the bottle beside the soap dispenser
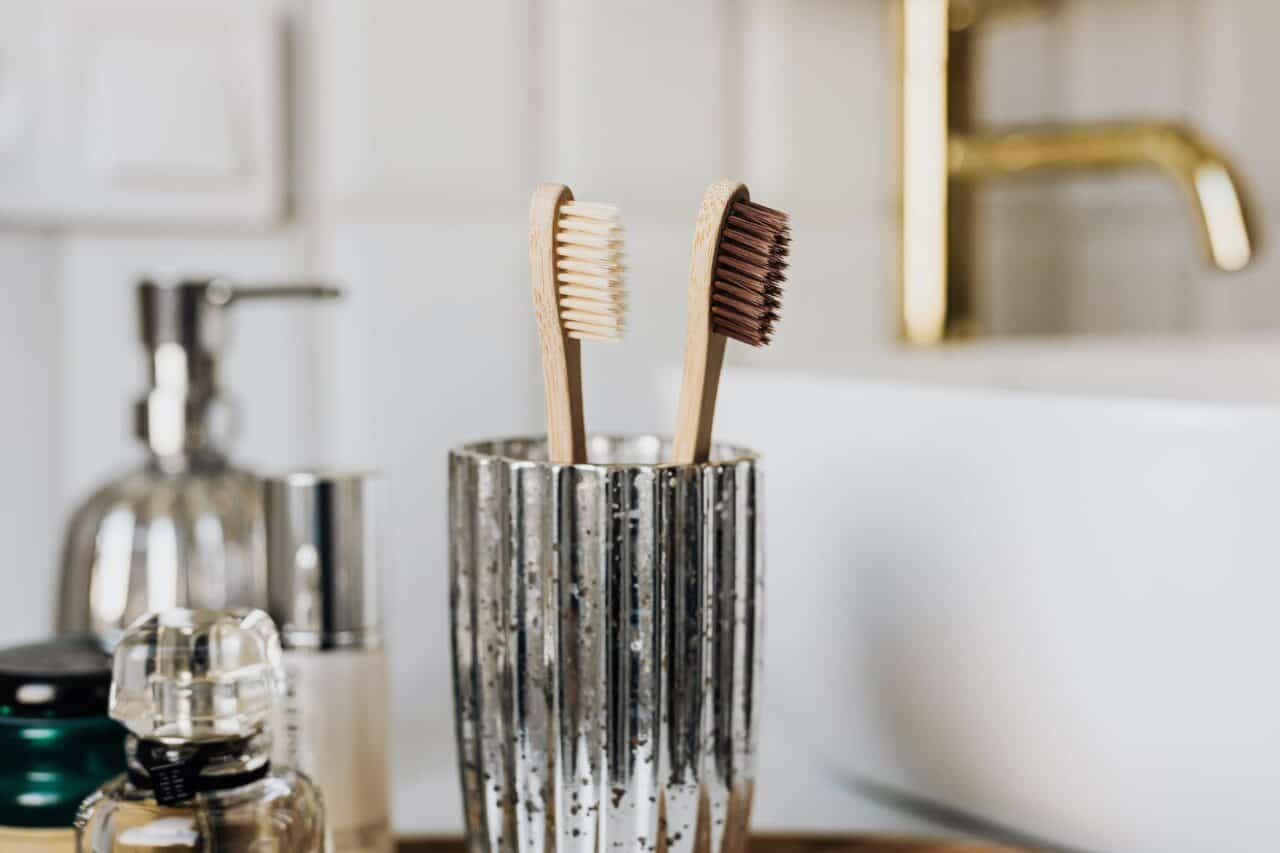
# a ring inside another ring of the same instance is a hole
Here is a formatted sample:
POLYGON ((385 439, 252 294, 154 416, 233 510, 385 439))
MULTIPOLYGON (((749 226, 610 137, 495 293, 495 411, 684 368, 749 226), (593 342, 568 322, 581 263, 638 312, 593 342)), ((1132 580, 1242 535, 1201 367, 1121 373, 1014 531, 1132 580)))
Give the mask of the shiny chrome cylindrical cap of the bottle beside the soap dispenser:
POLYGON ((269 602, 287 648, 379 644, 379 485, 365 471, 264 479, 269 602))

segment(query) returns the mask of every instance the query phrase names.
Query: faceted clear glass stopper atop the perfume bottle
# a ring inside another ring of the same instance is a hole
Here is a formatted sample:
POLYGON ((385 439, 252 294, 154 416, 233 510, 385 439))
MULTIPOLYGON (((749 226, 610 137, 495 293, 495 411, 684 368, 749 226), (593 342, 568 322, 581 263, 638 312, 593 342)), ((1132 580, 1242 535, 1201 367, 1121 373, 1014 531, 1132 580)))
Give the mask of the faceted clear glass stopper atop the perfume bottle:
POLYGON ((248 736, 284 689, 280 637, 260 610, 168 610, 115 649, 111 716, 140 738, 248 736))

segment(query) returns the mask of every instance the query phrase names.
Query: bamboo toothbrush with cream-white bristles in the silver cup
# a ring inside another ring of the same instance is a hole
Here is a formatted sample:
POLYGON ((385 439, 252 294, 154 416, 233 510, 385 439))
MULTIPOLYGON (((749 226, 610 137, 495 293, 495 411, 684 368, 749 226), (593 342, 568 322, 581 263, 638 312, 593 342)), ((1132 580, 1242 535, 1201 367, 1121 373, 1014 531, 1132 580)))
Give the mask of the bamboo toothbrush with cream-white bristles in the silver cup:
POLYGON ((543 351, 548 461, 586 461, 581 345, 622 339, 623 272, 618 209, 575 201, 563 184, 539 184, 529 209, 529 274, 543 351))

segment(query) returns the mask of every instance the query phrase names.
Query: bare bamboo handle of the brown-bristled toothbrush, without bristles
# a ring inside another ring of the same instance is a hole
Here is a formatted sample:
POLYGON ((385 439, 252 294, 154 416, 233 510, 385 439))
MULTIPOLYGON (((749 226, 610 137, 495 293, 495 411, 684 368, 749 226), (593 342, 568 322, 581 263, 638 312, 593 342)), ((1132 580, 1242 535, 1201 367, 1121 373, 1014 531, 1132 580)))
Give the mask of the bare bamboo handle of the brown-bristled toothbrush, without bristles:
POLYGON ((716 392, 724 362, 724 336, 712 332, 712 283, 716 252, 724 229, 730 205, 749 199, 746 186, 736 181, 717 181, 703 195, 694 231, 692 259, 689 266, 689 328, 685 332, 685 373, 680 383, 680 410, 676 442, 672 448, 677 465, 705 462, 712 447, 716 420, 716 392))

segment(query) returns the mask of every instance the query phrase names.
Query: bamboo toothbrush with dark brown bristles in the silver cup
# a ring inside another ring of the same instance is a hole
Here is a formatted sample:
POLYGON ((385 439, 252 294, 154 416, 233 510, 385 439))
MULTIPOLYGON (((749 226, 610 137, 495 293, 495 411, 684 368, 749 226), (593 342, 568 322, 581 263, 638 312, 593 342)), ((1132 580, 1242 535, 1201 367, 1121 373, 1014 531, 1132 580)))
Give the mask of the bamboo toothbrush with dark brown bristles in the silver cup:
POLYGON ((710 453, 726 341, 759 347, 773 338, 790 251, 785 213, 754 204, 742 183, 718 181, 707 188, 689 269, 676 464, 705 462, 710 453))

